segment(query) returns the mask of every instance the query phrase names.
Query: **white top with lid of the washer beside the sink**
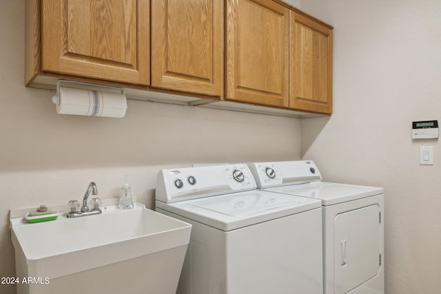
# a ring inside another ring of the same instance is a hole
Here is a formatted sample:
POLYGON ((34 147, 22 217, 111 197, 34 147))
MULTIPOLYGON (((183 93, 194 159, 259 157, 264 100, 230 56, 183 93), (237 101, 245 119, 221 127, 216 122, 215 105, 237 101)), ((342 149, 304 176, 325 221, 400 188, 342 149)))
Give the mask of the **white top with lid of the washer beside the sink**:
MULTIPOLYGON (((320 208, 320 201, 267 191, 245 191, 223 196, 156 205, 223 231, 320 208)), ((320 221, 320 220, 318 220, 320 221)))

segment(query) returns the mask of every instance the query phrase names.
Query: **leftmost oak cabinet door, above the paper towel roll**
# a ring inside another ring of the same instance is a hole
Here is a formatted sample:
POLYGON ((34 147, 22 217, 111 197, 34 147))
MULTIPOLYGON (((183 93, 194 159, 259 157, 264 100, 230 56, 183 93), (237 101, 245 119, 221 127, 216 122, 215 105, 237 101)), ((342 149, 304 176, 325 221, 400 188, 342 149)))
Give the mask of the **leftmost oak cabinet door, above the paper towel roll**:
POLYGON ((149 1, 42 0, 41 70, 150 82, 149 1))

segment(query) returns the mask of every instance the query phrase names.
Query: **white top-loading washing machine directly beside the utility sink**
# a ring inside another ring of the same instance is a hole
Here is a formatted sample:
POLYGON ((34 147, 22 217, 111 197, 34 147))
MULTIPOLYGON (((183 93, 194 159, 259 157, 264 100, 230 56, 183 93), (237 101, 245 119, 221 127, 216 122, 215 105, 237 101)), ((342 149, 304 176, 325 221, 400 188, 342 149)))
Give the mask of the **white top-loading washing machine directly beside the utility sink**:
POLYGON ((320 200, 256 190, 245 164, 156 183, 156 211, 192 224, 177 293, 322 294, 320 200))

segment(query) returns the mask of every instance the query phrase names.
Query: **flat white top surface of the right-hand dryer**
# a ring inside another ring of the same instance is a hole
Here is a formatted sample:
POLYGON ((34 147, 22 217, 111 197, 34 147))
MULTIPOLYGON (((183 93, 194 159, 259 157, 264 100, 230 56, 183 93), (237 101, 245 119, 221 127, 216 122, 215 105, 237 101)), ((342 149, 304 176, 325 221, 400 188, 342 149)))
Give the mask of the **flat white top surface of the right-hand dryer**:
POLYGON ((338 184, 334 182, 309 182, 265 189, 295 196, 310 197, 322 200, 322 205, 332 205, 383 193, 382 188, 358 185, 338 184))

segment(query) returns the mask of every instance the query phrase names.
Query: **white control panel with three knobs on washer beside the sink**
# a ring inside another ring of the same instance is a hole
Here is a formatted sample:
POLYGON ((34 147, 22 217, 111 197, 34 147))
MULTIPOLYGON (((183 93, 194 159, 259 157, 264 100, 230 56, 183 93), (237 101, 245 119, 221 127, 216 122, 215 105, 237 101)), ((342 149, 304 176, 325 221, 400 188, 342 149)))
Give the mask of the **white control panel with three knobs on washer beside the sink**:
POLYGON ((163 169, 156 179, 156 200, 177 202, 255 188, 244 163, 163 169))

